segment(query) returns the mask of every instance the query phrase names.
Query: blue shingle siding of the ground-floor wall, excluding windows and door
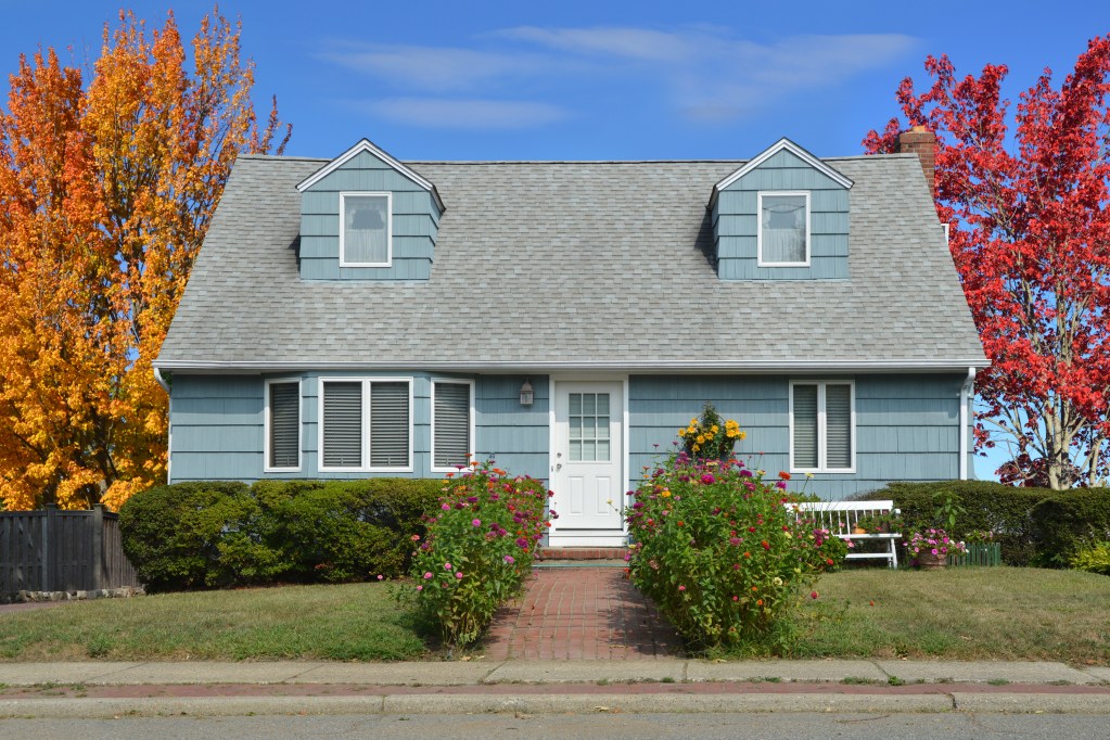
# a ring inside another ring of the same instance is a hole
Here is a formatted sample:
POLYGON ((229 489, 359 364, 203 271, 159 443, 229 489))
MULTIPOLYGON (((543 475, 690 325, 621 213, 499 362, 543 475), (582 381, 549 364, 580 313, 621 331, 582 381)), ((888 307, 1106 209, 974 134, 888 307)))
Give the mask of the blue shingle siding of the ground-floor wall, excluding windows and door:
MULTIPOLYGON (((325 473, 317 466, 321 373, 281 375, 174 374, 171 393, 172 480, 260 478, 363 478, 431 472, 432 378, 474 379, 478 459, 495 458, 514 474, 547 479, 551 384, 546 376, 431 373, 325 373, 327 378, 413 378, 412 473, 325 473), (300 377, 301 469, 264 473, 264 381, 300 377), (525 379, 535 403, 521 406, 525 379)), ((959 476, 959 391, 962 375, 633 375, 628 383, 629 478, 633 484, 657 456, 673 449, 679 427, 710 401, 748 433, 737 453, 774 476, 788 469, 788 394, 791 379, 851 379, 856 388, 856 473, 817 474, 807 490, 844 498, 889 480, 947 480, 959 476)), ((969 468, 970 469, 970 468, 969 468)), ((794 486, 804 478, 796 476, 794 486)))

